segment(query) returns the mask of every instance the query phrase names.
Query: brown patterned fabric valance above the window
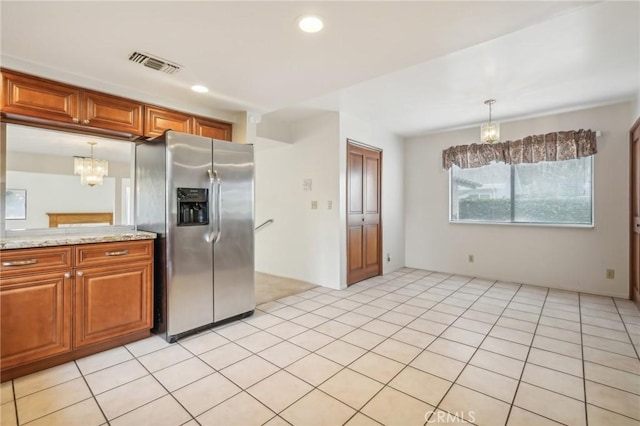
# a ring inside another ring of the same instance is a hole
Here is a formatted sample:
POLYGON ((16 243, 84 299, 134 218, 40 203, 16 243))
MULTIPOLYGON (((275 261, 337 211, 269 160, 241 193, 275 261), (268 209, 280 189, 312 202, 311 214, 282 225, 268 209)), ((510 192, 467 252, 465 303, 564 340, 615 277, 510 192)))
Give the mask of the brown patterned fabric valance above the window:
POLYGON ((449 170, 456 165, 471 169, 486 166, 492 161, 520 164, 573 160, 596 152, 596 132, 569 130, 527 136, 515 141, 452 146, 442 151, 442 167, 449 170))

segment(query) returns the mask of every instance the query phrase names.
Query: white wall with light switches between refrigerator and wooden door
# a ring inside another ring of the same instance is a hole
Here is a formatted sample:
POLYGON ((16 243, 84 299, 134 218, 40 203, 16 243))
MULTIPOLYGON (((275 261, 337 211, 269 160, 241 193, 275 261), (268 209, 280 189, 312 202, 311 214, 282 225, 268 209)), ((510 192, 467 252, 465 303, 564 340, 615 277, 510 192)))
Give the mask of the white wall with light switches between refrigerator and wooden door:
POLYGON ((338 114, 327 113, 292 125, 291 145, 256 142, 256 224, 274 219, 256 234, 257 271, 339 288, 338 128, 338 114))

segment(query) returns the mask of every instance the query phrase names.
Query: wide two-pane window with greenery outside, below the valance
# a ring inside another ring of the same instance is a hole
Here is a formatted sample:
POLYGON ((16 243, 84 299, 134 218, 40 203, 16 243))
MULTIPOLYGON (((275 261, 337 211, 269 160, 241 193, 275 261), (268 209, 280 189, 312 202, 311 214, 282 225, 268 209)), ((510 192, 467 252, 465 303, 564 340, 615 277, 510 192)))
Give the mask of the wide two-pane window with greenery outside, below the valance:
POLYGON ((593 225, 593 157, 450 170, 452 222, 593 225))

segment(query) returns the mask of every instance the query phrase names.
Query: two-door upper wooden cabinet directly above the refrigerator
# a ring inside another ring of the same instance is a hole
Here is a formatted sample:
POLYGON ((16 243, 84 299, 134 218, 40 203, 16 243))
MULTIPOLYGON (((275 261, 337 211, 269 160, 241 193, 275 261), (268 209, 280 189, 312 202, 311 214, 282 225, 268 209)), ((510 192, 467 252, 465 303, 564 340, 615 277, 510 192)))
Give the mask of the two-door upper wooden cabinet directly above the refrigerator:
POLYGON ((160 136, 165 130, 175 130, 224 141, 231 140, 232 126, 229 123, 164 108, 147 105, 144 122, 144 135, 149 138, 160 136))

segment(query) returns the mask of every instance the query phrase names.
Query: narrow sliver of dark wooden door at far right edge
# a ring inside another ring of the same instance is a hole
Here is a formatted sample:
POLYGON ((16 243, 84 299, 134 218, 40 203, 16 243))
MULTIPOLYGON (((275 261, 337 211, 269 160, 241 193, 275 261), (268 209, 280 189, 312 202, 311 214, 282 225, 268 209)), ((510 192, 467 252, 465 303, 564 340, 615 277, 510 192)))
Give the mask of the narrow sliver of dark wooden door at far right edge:
POLYGON ((631 298, 640 307, 640 118, 631 129, 631 298))

